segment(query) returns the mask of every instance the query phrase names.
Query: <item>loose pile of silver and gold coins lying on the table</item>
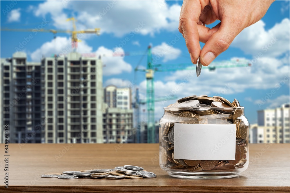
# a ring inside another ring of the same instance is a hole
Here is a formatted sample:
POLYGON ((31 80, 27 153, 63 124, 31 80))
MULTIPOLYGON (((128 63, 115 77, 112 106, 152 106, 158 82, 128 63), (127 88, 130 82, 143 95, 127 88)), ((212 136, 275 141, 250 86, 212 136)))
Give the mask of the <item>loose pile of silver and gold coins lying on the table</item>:
POLYGON ((152 172, 144 171, 143 167, 134 165, 124 165, 115 167, 115 169, 97 169, 97 170, 80 170, 80 171, 66 171, 60 173, 50 173, 41 176, 42 178, 58 178, 58 179, 142 179, 142 178, 156 178, 152 172))

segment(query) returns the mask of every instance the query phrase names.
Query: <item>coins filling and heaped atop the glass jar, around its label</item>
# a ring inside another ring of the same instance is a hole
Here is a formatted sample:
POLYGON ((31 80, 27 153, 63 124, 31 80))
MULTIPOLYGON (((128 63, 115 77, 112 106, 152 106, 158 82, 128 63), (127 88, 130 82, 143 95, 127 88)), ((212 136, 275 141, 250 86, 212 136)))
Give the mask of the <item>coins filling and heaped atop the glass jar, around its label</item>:
POLYGON ((174 170, 234 170, 247 162, 248 123, 237 99, 231 103, 219 96, 189 96, 165 108, 160 120, 160 166, 174 170), (184 160, 174 159, 174 124, 235 124, 235 160, 184 160), (247 124, 247 125, 246 125, 247 124))

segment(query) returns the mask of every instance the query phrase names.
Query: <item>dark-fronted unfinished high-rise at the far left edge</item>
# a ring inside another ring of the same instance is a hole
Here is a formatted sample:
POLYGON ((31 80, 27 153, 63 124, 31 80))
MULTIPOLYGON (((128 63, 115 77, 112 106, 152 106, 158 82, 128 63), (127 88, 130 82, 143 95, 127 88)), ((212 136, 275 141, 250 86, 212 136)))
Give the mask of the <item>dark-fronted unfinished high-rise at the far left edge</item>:
POLYGON ((9 125, 10 143, 41 142, 40 73, 40 63, 27 62, 23 52, 1 59, 0 117, 9 125))

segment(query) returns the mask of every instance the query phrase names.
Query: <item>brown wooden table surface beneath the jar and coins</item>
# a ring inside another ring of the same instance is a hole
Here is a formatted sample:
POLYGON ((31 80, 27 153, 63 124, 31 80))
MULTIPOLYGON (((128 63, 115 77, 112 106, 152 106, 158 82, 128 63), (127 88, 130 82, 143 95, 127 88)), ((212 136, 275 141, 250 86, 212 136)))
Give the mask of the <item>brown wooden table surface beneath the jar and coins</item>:
POLYGON ((2 155, 0 192, 290 192, 290 144, 250 144, 248 169, 230 179, 168 176, 159 167, 158 151, 158 144, 9 144, 9 188, 3 186, 5 157, 2 155), (46 173, 123 165, 144 167, 157 178, 61 180, 40 177, 46 173))

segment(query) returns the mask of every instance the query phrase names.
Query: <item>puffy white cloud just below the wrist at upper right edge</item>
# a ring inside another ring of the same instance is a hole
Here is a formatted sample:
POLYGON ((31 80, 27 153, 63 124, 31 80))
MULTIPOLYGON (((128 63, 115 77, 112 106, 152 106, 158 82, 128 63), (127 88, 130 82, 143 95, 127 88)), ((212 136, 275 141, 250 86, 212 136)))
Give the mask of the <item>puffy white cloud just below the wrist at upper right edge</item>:
POLYGON ((231 46, 240 48, 246 54, 278 57, 289 53, 289 18, 276 23, 271 29, 265 30, 265 23, 260 20, 244 29, 233 41, 231 46))

